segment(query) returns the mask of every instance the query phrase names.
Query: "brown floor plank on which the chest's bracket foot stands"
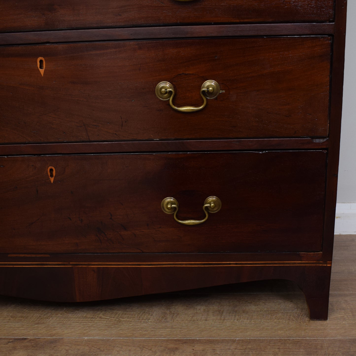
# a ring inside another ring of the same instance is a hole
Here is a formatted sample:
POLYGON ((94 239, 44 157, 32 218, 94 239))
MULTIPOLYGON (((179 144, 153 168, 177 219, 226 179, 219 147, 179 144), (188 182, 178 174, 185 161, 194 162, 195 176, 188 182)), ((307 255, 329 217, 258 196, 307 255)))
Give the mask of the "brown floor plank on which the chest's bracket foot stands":
POLYGON ((6 337, 356 337, 356 296, 330 295, 328 321, 311 321, 299 294, 190 294, 106 303, 2 300, 6 337), (26 318, 24 318, 24 315, 26 318), (21 327, 19 327, 21 326, 21 327))

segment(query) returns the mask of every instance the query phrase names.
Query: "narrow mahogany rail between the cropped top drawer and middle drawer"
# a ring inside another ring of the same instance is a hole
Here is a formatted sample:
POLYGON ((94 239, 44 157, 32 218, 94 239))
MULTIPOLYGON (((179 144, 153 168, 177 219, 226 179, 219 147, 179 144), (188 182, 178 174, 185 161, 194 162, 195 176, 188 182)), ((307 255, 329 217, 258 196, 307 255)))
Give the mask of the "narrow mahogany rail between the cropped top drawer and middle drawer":
POLYGON ((95 30, 58 30, 0 33, 0 45, 27 43, 65 43, 83 41, 118 41, 163 38, 333 35, 335 23, 247 23, 244 25, 201 25, 95 30))

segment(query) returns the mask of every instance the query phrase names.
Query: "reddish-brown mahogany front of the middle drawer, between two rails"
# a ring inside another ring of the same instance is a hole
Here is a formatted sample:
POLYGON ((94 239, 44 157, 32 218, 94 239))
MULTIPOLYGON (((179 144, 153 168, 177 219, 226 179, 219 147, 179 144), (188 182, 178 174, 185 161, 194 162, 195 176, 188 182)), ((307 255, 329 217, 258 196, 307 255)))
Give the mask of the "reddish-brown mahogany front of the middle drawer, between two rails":
POLYGON ((0 142, 328 135, 330 37, 122 41, 1 49, 0 142), (45 58, 43 77, 37 58, 45 58), (200 87, 223 92, 197 112, 200 87))

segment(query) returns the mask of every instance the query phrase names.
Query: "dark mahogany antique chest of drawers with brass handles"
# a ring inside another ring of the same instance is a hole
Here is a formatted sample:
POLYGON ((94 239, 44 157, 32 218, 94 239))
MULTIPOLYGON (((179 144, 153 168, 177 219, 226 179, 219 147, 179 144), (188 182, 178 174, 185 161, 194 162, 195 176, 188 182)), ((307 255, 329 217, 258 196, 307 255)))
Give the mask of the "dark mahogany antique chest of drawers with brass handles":
POLYGON ((282 278, 328 316, 346 1, 2 1, 0 293, 282 278))

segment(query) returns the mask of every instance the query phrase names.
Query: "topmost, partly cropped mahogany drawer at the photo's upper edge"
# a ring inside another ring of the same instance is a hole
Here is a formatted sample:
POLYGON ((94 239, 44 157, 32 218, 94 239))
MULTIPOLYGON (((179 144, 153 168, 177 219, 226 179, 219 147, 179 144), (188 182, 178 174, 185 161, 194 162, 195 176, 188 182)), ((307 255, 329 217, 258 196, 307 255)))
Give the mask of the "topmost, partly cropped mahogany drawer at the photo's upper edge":
POLYGON ((188 23, 325 22, 334 0, 43 0, 0 3, 0 31, 105 28, 188 23))

